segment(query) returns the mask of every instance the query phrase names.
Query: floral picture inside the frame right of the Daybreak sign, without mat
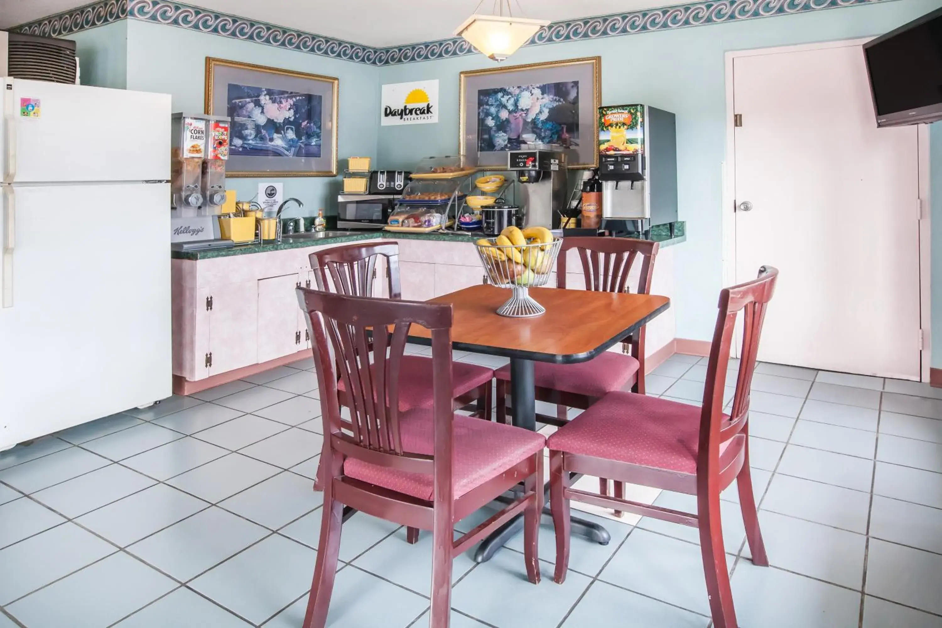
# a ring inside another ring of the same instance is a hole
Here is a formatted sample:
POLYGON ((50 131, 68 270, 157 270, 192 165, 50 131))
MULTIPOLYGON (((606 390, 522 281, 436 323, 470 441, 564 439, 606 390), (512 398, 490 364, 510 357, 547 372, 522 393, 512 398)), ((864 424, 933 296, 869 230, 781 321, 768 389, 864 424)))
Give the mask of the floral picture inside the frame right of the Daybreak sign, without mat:
POLYGON ((479 152, 522 144, 578 145, 579 83, 565 81, 478 91, 479 152))

